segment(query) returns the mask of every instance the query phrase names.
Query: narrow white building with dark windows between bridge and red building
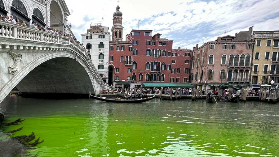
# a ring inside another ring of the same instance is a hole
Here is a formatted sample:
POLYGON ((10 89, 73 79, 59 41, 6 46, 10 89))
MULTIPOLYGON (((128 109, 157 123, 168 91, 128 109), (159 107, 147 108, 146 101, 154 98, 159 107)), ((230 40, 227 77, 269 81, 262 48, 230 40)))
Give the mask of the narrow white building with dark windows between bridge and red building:
POLYGON ((108 27, 100 23, 91 23, 87 33, 81 34, 82 44, 86 47, 86 52, 91 57, 95 68, 98 70, 101 78, 108 83, 108 48, 109 36, 108 27))

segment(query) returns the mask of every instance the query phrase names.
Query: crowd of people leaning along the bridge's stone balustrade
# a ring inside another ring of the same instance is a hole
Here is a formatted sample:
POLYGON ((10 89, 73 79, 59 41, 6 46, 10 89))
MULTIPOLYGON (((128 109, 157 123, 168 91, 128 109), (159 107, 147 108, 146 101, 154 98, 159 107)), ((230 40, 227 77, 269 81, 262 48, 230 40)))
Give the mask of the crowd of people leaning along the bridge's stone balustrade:
MULTIPOLYGON (((22 22, 20 22, 19 19, 14 19, 14 16, 11 15, 6 15, 6 17, 4 18, 3 15, 0 15, 0 20, 5 21, 5 22, 9 22, 9 23, 13 23, 13 24, 18 24, 18 25, 22 25, 22 26, 26 26, 25 21, 23 20, 22 22)), ((75 40, 80 46, 83 47, 83 49, 85 49, 85 46, 80 43, 77 38, 75 38, 74 36, 72 36, 71 34, 66 34, 66 32, 63 33, 63 31, 59 31, 57 29, 54 28, 44 28, 41 25, 38 25, 35 21, 32 21, 32 24, 30 24, 30 28, 34 28, 34 29, 38 29, 38 30, 42 30, 42 31, 46 31, 46 32, 50 32, 53 34, 58 34, 58 35, 62 35, 62 36, 67 36, 72 38, 73 40, 75 40)))

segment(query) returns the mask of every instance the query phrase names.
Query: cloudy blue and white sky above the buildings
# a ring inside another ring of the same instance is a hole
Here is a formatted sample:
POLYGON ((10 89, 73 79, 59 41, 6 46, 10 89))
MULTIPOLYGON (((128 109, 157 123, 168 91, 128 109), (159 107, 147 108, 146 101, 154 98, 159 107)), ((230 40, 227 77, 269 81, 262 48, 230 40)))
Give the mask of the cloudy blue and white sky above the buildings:
MULTIPOLYGON (((65 0, 68 23, 78 40, 91 22, 103 20, 111 30, 117 0, 65 0)), ((173 48, 193 49, 196 44, 239 31, 279 29, 279 0, 119 0, 123 35, 131 29, 151 29, 174 40, 173 48)))

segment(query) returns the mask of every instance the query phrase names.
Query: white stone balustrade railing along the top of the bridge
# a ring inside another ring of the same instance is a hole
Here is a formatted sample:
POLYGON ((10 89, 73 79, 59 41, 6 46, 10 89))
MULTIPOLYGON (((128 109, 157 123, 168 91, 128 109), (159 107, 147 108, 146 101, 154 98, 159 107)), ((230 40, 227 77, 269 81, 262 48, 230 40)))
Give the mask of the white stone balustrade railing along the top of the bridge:
POLYGON ((97 69, 92 63, 90 57, 86 53, 86 49, 84 49, 70 37, 53 34, 42 30, 21 26, 18 24, 8 23, 5 21, 0 21, 0 39, 1 37, 72 46, 73 48, 78 50, 78 53, 81 56, 84 57, 84 59, 88 63, 88 66, 92 69, 92 73, 94 73, 95 78, 100 83, 100 86, 104 87, 103 80, 97 72, 97 69))

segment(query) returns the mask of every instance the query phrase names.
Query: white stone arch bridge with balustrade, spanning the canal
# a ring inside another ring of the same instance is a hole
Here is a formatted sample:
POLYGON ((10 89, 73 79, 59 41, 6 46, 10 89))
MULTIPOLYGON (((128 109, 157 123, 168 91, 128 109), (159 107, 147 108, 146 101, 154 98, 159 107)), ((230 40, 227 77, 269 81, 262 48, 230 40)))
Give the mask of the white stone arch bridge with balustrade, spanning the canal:
POLYGON ((73 39, 0 21, 0 103, 14 87, 22 93, 112 89, 73 39))

